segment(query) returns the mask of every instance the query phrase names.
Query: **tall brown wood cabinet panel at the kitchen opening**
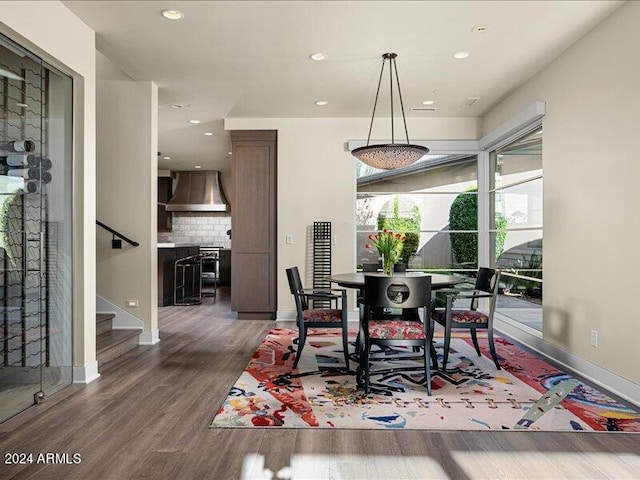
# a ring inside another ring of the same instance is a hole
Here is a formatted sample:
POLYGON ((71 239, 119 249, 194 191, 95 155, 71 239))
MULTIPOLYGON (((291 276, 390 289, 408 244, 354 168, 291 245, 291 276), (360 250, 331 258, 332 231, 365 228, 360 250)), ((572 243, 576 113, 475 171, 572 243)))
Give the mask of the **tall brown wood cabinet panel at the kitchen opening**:
POLYGON ((238 318, 275 319, 276 146, 273 130, 236 130, 233 145, 231 309, 238 318))

